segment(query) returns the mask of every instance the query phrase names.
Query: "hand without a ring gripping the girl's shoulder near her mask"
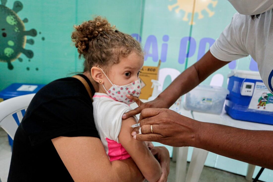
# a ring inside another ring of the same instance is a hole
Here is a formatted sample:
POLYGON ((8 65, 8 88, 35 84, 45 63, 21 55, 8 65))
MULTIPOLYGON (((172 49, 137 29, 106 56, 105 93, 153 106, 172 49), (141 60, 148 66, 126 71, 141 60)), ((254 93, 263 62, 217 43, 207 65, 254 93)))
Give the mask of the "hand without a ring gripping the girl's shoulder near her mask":
POLYGON ((160 99, 159 97, 157 97, 155 100, 152 100, 150 102, 145 102, 145 103, 141 102, 139 98, 134 97, 132 95, 126 95, 126 97, 128 99, 132 99, 133 101, 135 101, 138 107, 129 112, 124 113, 122 116, 122 119, 127 119, 131 116, 140 114, 140 112, 144 108, 169 108, 170 107, 167 105, 166 101, 160 99))

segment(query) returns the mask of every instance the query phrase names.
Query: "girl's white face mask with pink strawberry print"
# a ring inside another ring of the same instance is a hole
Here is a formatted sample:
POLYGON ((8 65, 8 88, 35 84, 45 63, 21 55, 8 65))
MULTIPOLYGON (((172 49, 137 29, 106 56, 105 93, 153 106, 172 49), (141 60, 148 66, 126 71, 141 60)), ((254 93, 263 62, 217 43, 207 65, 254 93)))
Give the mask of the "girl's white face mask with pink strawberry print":
MULTIPOLYGON (((100 70, 102 70, 100 68, 100 70)), ((102 70, 103 72, 103 70, 102 70)), ((103 74, 106 76, 106 74, 103 72, 103 74)), ((109 78, 106 76, 106 78, 109 80, 109 78)), ((140 79, 133 81, 132 83, 129 83, 127 85, 123 85, 123 86, 119 86, 119 85, 115 85, 113 84, 110 80, 109 82, 112 84, 112 86, 106 90, 106 88, 104 87, 104 85, 102 84, 103 88, 106 91, 106 94, 110 97, 112 97, 113 99, 119 101, 119 102, 123 102, 126 104, 132 104, 135 101, 130 100, 126 97, 126 95, 132 95, 135 97, 139 97, 140 95, 140 89, 141 89, 141 81, 140 79)))

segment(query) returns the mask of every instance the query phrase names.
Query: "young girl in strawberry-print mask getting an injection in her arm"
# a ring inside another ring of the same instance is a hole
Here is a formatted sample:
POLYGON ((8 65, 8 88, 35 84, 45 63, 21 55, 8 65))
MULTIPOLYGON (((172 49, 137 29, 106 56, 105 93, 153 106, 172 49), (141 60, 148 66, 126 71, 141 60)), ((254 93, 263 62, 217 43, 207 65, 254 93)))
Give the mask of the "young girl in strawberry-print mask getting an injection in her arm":
POLYGON ((101 17, 82 23, 77 32, 82 40, 76 47, 83 47, 82 52, 88 50, 84 56, 93 66, 87 69, 99 86, 93 96, 94 120, 109 160, 132 157, 148 181, 158 181, 162 173, 159 162, 144 142, 131 136, 136 117, 122 120, 133 103, 126 95, 140 94, 138 74, 144 62, 140 43, 101 17))

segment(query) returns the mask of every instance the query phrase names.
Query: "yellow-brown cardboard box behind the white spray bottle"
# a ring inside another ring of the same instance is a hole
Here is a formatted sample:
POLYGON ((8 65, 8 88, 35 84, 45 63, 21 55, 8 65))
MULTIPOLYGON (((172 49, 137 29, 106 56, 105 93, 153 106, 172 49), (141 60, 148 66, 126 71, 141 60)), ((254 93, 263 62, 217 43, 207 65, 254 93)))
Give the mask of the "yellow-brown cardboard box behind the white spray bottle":
POLYGON ((141 68, 141 73, 139 74, 139 77, 141 81, 144 83, 144 87, 141 89, 141 93, 139 98, 140 99, 148 99, 149 97, 152 96, 153 93, 153 88, 152 87, 152 82, 151 80, 158 80, 158 72, 159 72, 159 67, 161 64, 161 60, 158 62, 158 66, 143 66, 141 68))

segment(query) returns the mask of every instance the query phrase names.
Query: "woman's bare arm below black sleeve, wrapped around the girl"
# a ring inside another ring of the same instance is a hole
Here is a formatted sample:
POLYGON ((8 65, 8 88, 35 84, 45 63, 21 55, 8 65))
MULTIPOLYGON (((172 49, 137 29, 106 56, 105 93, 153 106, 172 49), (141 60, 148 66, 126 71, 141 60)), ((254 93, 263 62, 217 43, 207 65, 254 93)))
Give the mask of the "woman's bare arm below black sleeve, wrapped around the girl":
POLYGON ((60 136, 52 143, 76 182, 144 180, 132 159, 110 162, 99 138, 60 136))

